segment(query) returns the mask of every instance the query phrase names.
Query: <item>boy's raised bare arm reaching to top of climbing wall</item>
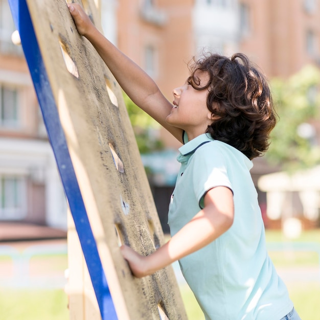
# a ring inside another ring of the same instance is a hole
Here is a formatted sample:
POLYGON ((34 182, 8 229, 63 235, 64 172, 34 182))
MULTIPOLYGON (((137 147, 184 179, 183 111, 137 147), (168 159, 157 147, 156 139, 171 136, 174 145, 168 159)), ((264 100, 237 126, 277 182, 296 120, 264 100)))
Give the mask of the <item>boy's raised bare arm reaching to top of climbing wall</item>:
POLYGON ((172 105, 152 78, 98 31, 80 5, 68 7, 79 34, 93 44, 130 99, 182 142, 182 130, 166 122, 172 105))

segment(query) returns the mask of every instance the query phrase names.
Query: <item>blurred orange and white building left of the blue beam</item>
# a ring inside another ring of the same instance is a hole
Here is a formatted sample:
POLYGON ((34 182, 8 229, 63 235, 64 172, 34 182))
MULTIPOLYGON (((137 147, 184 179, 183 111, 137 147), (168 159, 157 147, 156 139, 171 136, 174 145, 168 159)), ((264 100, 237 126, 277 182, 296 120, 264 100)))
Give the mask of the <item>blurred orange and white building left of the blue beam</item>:
POLYGON ((66 228, 66 201, 7 0, 0 0, 0 222, 66 228))

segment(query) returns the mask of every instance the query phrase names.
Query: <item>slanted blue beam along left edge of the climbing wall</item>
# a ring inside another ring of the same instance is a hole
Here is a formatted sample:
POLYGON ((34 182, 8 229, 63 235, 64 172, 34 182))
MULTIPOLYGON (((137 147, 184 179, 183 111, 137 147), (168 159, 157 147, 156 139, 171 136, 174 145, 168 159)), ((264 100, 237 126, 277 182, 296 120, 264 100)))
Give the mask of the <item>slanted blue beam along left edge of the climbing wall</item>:
POLYGON ((103 320, 117 320, 26 0, 9 0, 103 320))

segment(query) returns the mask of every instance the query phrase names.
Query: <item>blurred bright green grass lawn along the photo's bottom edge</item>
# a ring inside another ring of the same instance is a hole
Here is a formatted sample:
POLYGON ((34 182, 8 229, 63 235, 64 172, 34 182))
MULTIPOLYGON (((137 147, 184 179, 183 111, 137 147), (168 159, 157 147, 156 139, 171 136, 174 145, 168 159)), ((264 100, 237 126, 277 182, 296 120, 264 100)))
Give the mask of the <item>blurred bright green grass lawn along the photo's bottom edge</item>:
MULTIPOLYGON (((303 320, 320 318, 319 284, 290 285, 291 299, 303 320)), ((188 286, 181 287, 189 320, 204 320, 188 286)), ((0 290, 2 320, 68 320, 67 299, 60 290, 0 290)))

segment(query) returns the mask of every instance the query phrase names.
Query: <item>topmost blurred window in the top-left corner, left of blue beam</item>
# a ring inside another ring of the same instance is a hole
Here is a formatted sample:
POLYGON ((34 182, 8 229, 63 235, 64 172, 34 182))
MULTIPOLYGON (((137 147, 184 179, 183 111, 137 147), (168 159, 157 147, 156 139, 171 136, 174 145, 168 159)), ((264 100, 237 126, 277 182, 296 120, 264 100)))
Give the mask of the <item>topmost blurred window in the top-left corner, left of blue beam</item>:
POLYGON ((12 43, 11 35, 15 31, 8 0, 0 0, 0 53, 22 55, 20 46, 12 43))

